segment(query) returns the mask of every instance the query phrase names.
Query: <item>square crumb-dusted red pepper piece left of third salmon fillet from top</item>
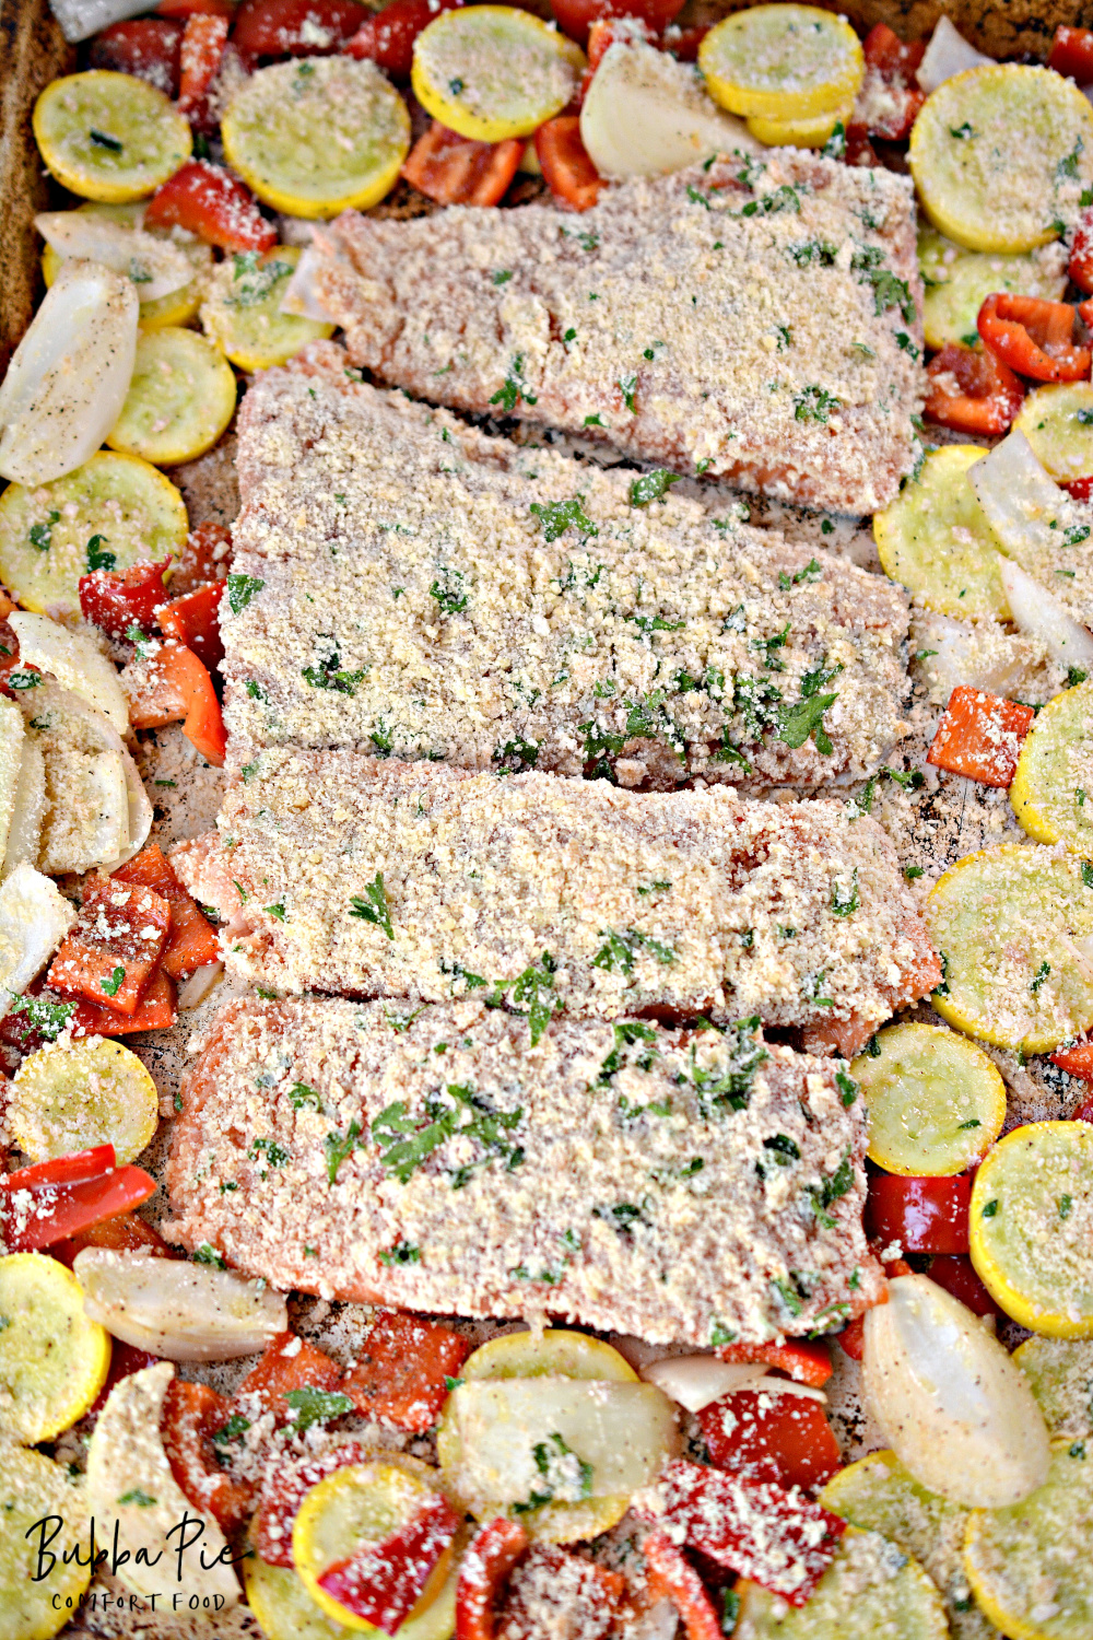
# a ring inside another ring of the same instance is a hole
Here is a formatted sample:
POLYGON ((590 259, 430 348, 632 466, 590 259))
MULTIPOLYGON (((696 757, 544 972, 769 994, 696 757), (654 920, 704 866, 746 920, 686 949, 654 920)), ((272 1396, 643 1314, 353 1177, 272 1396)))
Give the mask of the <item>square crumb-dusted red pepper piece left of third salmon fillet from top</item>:
POLYGON ((167 945, 170 907, 138 884, 90 877, 79 920, 46 976, 62 997, 136 1014, 167 945))

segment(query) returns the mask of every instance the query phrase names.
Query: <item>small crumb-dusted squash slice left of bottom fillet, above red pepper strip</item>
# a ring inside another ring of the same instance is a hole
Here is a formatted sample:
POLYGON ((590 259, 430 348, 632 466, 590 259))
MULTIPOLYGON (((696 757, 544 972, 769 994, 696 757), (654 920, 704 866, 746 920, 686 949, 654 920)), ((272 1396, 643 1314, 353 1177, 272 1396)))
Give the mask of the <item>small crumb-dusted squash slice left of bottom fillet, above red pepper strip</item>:
POLYGON ((49 1043, 23 1059, 8 1120, 31 1161, 113 1145, 118 1166, 134 1161, 159 1122, 159 1094, 120 1041, 49 1043))

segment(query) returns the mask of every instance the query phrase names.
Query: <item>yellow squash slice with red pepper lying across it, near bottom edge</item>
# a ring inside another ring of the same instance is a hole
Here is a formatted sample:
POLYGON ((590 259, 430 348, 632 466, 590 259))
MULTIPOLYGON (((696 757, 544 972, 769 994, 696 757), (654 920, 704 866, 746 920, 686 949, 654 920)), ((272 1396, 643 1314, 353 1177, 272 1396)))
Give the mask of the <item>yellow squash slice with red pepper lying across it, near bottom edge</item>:
MULTIPOLYGON (((311 1601, 346 1629, 379 1630, 334 1601, 320 1584, 328 1566, 346 1560, 362 1542, 382 1540, 405 1525, 444 1481, 424 1463, 377 1453, 372 1463, 334 1469, 306 1492, 292 1528, 292 1558, 311 1601)), ((403 1624, 400 1640, 447 1640, 456 1615, 456 1543, 438 1560, 421 1599, 403 1624)))

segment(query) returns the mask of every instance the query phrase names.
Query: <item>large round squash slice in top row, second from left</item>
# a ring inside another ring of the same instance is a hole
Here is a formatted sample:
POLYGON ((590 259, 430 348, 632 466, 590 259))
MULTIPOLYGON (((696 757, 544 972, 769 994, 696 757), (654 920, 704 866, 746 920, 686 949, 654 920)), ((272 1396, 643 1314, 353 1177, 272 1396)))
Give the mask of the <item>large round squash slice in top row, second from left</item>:
POLYGON ((292 216, 379 205, 410 153, 410 115, 374 62, 306 57, 243 82, 224 153, 261 200, 292 216))

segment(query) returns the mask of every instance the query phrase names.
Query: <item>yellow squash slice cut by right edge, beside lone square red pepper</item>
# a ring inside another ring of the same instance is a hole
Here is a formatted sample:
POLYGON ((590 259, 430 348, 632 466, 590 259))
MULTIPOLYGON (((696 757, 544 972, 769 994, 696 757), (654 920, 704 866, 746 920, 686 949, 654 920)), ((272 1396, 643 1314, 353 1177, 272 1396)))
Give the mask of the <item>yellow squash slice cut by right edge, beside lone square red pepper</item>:
POLYGON ((1037 843, 1064 843, 1093 859, 1093 681, 1065 689, 1039 713, 1009 802, 1037 843))

